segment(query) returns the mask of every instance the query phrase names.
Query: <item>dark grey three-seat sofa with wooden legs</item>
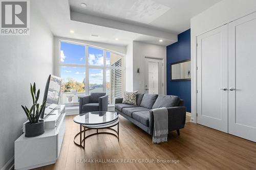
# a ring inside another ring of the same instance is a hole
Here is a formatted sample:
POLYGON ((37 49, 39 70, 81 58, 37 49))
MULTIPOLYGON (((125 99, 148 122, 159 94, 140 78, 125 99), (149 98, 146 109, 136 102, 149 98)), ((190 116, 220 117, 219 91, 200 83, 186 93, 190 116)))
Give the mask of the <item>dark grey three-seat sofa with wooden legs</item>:
POLYGON ((153 135, 154 115, 151 109, 166 107, 168 110, 168 130, 176 130, 185 126, 186 108, 184 101, 174 95, 137 94, 137 105, 122 103, 123 98, 115 99, 115 111, 130 120, 150 135, 153 135))

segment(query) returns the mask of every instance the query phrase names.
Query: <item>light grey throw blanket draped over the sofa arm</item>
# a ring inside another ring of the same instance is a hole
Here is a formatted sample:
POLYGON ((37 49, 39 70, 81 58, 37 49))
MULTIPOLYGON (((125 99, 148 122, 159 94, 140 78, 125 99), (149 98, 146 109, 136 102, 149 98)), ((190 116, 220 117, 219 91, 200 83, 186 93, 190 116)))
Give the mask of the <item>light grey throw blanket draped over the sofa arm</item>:
POLYGON ((167 142, 168 137, 168 110, 166 108, 152 109, 154 114, 153 142, 167 142))

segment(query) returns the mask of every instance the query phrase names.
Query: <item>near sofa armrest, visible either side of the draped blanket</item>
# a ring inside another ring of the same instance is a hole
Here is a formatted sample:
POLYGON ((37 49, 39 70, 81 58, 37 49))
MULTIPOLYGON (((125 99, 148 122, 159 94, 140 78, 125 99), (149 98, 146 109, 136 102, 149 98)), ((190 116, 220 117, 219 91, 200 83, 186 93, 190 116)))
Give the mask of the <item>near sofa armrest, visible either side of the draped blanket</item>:
MULTIPOLYGON (((168 130, 178 130, 182 129, 185 126, 186 121, 186 107, 178 106, 178 107, 170 107, 168 110, 168 130)), ((154 114, 153 111, 150 110, 150 119, 149 119, 149 127, 148 133, 153 134, 154 128, 154 114)))

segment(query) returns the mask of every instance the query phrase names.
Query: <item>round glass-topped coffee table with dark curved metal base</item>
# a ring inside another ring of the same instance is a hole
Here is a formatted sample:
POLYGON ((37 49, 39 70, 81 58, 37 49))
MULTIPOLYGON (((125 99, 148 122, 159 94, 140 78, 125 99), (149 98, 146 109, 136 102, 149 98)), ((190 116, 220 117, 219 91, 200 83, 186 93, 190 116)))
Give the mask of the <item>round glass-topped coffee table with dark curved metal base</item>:
POLYGON ((74 117, 74 122, 80 125, 80 132, 74 137, 74 143, 79 147, 85 148, 86 138, 97 134, 111 134, 119 141, 119 120, 117 112, 96 111, 79 114, 74 117), (117 126, 117 131, 112 127, 117 126), (83 129, 82 129, 83 127, 83 129), (96 133, 86 136, 86 131, 96 129, 96 133), (99 129, 109 129, 111 132, 98 132, 99 129), (79 136, 80 141, 77 142, 79 136))

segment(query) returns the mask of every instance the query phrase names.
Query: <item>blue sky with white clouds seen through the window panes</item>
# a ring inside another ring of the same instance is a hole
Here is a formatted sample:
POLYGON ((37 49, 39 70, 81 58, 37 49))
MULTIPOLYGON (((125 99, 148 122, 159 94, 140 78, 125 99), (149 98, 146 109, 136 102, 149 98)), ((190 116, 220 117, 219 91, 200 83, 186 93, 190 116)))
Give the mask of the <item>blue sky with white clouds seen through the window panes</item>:
MULTIPOLYGON (((60 62, 65 64, 85 64, 85 46, 61 42, 60 62)), ((90 47, 88 48, 88 64, 89 65, 104 65, 103 50, 90 47)), ((110 52, 106 52, 106 65, 110 65, 110 52)), ((109 72, 108 72, 109 73, 109 72)), ((77 82, 82 83, 86 77, 86 69, 84 67, 60 67, 61 78, 67 81, 72 78, 77 82)), ((89 69, 89 82, 92 84, 102 84, 103 70, 89 69)))

